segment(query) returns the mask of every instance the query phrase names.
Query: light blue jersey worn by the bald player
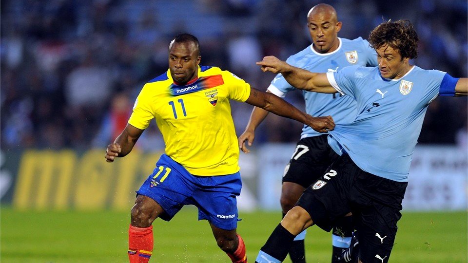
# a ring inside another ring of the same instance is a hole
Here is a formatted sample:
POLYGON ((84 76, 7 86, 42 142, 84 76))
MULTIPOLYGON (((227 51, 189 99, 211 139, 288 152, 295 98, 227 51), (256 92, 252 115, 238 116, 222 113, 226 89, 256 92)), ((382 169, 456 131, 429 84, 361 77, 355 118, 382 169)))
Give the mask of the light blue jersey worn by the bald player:
MULTIPOLYGON (((290 56, 286 62, 290 65, 306 69, 311 72, 336 72, 350 65, 377 66, 377 54, 370 48, 369 42, 362 38, 354 40, 338 38, 338 49, 331 53, 320 54, 313 49, 313 44, 303 51, 290 56)), ((283 77, 278 74, 268 87, 271 93, 284 97, 286 93, 294 90, 283 77)), ((312 116, 331 115, 336 124, 349 123, 356 116, 356 103, 340 94, 320 94, 303 91, 306 102, 306 112, 312 116)), ((302 128, 301 139, 321 134, 309 126, 302 128)))

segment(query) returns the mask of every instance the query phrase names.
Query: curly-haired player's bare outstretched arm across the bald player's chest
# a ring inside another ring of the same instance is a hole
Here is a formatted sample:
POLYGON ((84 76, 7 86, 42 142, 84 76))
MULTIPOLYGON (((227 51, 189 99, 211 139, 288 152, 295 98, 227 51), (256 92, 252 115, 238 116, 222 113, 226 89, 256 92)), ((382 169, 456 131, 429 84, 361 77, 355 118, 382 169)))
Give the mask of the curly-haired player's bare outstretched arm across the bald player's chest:
POLYGON ((325 73, 312 73, 310 71, 291 66, 275 56, 265 56, 257 62, 263 72, 281 73, 291 86, 311 92, 336 93, 325 73))

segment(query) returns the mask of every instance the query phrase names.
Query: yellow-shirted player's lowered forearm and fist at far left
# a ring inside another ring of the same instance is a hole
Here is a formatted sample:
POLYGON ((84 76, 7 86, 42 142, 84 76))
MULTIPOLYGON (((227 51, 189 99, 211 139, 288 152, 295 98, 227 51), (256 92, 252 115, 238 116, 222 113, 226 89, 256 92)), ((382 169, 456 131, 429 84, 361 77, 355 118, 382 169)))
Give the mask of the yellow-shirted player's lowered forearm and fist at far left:
POLYGON ((122 133, 117 136, 114 143, 107 146, 105 155, 106 161, 108 163, 114 162, 116 157, 123 157, 132 151, 143 131, 144 130, 137 129, 134 126, 127 124, 122 133))

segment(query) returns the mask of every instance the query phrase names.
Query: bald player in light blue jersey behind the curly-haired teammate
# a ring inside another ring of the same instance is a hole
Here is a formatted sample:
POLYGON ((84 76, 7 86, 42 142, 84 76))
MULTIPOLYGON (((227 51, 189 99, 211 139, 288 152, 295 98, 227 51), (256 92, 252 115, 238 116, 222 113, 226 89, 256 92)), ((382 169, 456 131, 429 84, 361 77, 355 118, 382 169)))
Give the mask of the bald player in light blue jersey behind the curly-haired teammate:
MULTIPOLYGON (((369 42, 356 38, 353 40, 338 38, 342 23, 338 21, 335 9, 328 4, 318 4, 307 15, 307 26, 312 38, 312 45, 290 56, 286 62, 311 72, 336 72, 350 65, 377 66, 375 50, 369 42)), ((295 90, 286 79, 275 76, 267 92, 284 97, 295 90)), ((321 94, 302 92, 306 112, 312 116, 332 115, 335 124, 350 123, 356 116, 356 101, 351 96, 339 93, 321 94)), ((246 141, 252 145, 255 129, 265 119, 268 111, 255 107, 249 123, 239 136, 239 147, 248 153, 246 141)), ((327 142, 328 133, 314 131, 304 126, 301 138, 292 154, 283 175, 281 188, 281 208, 283 217, 294 206, 302 192, 324 174, 331 163, 339 156, 327 142)), ((337 262, 343 249, 349 247, 353 231, 351 217, 343 217, 335 222, 332 231, 331 262, 337 262)), ((289 255, 293 263, 305 262, 304 238, 306 230, 297 235, 289 255)))

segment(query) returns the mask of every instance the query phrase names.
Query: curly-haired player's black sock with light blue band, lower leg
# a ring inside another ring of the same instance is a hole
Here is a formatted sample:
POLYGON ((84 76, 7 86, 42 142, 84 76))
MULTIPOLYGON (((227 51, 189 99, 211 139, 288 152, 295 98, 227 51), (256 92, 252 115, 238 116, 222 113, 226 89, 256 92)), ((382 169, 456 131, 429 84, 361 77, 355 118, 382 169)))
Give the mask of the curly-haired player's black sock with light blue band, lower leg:
POLYGON ((281 224, 278 224, 273 233, 262 246, 255 259, 257 263, 280 263, 284 261, 291 249, 294 235, 281 224))

